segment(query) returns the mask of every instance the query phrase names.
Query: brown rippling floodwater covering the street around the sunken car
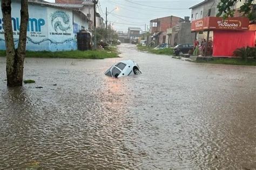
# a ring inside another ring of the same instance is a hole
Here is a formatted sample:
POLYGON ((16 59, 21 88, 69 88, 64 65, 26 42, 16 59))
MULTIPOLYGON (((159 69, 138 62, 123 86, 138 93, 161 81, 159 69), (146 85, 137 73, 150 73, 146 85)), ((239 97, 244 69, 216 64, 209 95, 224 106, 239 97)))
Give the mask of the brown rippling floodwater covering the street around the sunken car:
POLYGON ((0 169, 256 168, 256 67, 119 49, 123 58, 26 59, 36 83, 22 88, 6 87, 0 58, 0 169), (143 74, 104 75, 124 59, 143 74))

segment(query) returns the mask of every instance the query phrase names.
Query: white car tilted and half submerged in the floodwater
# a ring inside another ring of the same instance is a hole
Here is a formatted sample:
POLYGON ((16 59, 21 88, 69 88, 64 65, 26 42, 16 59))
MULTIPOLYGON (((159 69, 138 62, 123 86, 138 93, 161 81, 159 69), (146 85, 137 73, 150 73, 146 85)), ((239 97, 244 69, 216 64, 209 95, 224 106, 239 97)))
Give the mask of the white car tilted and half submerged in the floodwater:
POLYGON ((127 75, 140 74, 139 65, 132 60, 119 61, 108 70, 105 75, 110 77, 123 77, 127 75))

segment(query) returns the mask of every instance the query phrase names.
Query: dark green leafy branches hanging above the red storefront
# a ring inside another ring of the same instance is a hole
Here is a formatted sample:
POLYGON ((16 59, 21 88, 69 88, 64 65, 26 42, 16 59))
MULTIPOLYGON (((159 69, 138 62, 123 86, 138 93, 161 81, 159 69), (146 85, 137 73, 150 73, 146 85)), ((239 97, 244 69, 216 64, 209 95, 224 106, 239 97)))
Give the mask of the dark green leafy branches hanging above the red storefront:
MULTIPOLYGON (((219 4, 217 5, 217 8, 219 10, 219 13, 217 13, 217 17, 233 17, 235 13, 235 9, 233 9, 233 6, 239 1, 241 2, 241 0, 220 0, 219 4)), ((239 12, 243 13, 243 15, 248 17, 250 20, 254 20, 256 15, 253 10, 253 2, 254 0, 248 0, 239 9, 239 12)))

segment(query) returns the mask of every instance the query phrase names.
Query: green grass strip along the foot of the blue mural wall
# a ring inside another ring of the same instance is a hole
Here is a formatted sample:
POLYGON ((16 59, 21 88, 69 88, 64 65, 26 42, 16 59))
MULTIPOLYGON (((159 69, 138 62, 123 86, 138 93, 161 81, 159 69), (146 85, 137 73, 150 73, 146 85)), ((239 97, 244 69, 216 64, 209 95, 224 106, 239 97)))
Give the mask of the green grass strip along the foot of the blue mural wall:
MULTIPOLYGON (((107 47, 106 50, 98 51, 27 51, 26 58, 70 58, 70 59, 105 59, 118 57, 117 48, 107 47)), ((0 56, 5 56, 5 51, 0 51, 0 56)))

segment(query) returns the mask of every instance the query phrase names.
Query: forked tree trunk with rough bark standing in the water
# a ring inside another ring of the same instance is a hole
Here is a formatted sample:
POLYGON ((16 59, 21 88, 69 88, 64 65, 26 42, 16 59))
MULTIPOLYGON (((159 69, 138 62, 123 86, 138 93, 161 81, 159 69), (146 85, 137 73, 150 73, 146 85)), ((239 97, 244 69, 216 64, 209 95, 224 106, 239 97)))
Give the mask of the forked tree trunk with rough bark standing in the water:
POLYGON ((7 86, 22 86, 23 64, 26 55, 26 32, 29 20, 28 0, 21 0, 21 25, 19 26, 19 42, 17 49, 15 49, 12 32, 11 0, 2 0, 2 13, 6 48, 7 86))

